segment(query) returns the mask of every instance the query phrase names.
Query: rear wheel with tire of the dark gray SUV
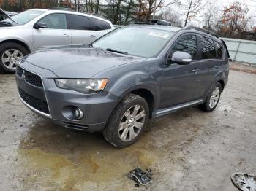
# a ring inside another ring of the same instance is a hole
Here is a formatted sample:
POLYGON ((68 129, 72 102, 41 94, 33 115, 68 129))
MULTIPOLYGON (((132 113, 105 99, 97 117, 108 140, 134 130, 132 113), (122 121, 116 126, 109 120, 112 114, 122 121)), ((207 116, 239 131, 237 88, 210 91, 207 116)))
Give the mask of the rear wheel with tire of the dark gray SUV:
POLYGON ((200 104, 200 109, 202 109, 203 112, 214 111, 214 109, 217 107, 219 103, 219 98, 221 94, 222 94, 222 85, 219 82, 217 82, 213 87, 211 87, 210 93, 208 94, 206 101, 203 104, 200 104), (218 95, 216 94, 217 92, 214 92, 215 90, 219 91, 218 95))

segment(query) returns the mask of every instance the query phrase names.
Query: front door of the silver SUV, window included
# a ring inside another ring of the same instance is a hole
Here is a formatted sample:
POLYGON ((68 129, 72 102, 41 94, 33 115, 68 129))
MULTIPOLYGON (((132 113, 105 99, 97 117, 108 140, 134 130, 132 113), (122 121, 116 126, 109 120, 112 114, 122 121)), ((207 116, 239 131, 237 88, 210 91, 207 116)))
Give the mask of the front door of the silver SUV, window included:
POLYGON ((42 47, 71 44, 66 14, 53 13, 37 22, 45 23, 48 28, 33 28, 34 50, 39 50, 42 47))

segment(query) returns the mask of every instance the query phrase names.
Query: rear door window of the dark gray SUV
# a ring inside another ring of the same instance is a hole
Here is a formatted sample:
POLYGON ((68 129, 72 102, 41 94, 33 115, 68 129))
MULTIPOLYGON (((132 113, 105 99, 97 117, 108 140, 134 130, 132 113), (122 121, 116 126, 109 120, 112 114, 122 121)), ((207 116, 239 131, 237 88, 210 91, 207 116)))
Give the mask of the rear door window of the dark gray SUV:
POLYGON ((216 52, 214 47, 214 41, 205 36, 200 36, 201 47, 202 47, 202 59, 213 59, 216 58, 216 52))

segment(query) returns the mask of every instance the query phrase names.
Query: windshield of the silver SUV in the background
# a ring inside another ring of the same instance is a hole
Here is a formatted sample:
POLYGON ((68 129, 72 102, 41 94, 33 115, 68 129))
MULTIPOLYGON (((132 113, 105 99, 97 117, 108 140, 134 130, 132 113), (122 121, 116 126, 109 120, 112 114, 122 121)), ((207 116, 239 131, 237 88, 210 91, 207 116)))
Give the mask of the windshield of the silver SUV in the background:
MULTIPOLYGON (((42 15, 42 13, 45 13, 45 11, 27 10, 24 12, 20 12, 18 15, 12 16, 12 20, 15 22, 14 24, 18 24, 20 26, 29 23, 30 20, 33 20, 39 15, 42 15)), ((8 23, 13 23, 12 20, 10 20, 10 18, 7 18, 4 21, 8 23)))

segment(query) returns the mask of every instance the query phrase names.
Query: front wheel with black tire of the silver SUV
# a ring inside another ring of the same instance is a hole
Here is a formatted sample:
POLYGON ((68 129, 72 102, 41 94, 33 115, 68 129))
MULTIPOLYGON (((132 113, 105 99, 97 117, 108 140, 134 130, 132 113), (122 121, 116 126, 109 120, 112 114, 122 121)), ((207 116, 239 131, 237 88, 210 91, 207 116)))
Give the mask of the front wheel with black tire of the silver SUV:
POLYGON ((25 47, 15 42, 6 42, 0 45, 0 68, 5 74, 14 74, 16 70, 16 64, 29 52, 25 47), (10 56, 6 54, 10 52, 10 56), (5 62, 4 62, 4 59, 5 62), (9 68, 10 66, 10 68, 9 68))

